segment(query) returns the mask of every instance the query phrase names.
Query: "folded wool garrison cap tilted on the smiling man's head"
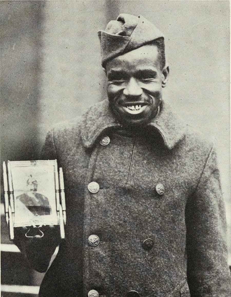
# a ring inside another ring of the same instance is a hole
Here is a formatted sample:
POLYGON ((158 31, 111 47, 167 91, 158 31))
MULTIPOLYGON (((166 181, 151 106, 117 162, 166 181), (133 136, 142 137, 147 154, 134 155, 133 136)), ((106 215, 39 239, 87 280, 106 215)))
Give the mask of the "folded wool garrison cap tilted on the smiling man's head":
POLYGON ((107 61, 160 37, 164 38, 159 29, 142 15, 137 17, 126 13, 120 14, 116 20, 111 20, 105 31, 99 31, 98 35, 104 68, 107 61))

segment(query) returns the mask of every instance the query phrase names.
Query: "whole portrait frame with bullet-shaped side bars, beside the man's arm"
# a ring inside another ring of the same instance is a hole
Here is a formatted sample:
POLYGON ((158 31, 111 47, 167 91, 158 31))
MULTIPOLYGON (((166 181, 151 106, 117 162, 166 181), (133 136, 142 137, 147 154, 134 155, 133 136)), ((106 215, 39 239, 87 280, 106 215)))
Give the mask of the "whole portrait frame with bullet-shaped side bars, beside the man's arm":
POLYGON ((10 239, 15 227, 60 225, 64 238, 66 206, 62 168, 56 160, 3 164, 5 212, 10 239))

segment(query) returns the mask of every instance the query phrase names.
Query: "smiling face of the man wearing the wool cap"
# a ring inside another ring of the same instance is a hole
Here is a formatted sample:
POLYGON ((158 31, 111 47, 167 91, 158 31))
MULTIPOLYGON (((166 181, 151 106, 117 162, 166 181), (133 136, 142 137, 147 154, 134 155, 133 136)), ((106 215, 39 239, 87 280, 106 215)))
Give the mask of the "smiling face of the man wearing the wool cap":
POLYGON ((156 116, 168 70, 160 69, 157 47, 144 45, 108 61, 110 106, 125 125, 143 125, 156 116))

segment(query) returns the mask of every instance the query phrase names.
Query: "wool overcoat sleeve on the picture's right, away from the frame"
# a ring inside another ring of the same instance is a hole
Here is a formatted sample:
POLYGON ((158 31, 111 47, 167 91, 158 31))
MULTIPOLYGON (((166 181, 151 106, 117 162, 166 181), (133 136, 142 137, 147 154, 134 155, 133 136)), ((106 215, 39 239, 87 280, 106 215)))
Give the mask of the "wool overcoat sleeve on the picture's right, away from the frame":
POLYGON ((214 149, 188 203, 186 225, 191 296, 230 297, 226 216, 214 149))

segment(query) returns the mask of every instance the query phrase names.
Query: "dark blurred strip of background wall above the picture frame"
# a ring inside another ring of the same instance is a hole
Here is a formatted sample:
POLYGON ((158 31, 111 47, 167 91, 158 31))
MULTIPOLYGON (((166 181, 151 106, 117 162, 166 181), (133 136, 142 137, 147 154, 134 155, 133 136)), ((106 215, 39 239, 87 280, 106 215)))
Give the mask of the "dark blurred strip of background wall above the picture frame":
POLYGON ((1 1, 1 158, 36 157, 44 1, 1 1))

